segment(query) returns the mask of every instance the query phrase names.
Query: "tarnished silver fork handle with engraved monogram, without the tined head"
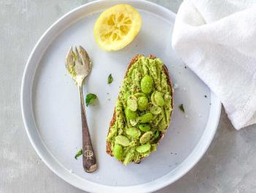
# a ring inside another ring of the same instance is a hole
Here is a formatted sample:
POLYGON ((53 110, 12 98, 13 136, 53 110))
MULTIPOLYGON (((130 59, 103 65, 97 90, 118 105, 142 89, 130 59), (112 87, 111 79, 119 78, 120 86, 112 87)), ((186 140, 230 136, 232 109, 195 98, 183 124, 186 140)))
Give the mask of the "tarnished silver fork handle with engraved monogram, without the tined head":
POLYGON ((88 172, 97 170, 97 162, 94 154, 94 149, 91 144, 89 127, 86 120, 86 109, 83 101, 83 87, 79 87, 80 106, 81 106, 81 120, 82 120, 82 135, 83 135, 83 169, 88 172))

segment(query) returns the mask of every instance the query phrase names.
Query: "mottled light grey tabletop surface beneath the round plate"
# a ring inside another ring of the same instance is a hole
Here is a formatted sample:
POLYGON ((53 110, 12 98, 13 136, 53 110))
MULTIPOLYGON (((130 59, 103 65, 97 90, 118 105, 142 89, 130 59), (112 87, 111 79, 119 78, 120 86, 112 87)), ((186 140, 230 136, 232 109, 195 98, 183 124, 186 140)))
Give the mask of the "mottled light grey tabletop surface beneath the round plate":
MULTIPOLYGON (((181 0, 153 0, 177 12, 181 0)), ((0 193, 77 193, 39 159, 20 114, 29 53, 61 15, 86 0, 0 0, 0 193)), ((256 192, 256 126, 236 131, 222 109, 213 143, 186 176, 159 193, 256 192)))

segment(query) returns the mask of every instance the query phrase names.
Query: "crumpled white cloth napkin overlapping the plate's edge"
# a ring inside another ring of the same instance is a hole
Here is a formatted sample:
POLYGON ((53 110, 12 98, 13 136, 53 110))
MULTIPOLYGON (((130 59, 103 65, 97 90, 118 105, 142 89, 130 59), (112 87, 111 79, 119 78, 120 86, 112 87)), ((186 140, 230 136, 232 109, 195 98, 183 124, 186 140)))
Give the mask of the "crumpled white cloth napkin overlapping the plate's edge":
POLYGON ((185 0, 172 44, 219 97, 237 130, 256 123, 255 0, 185 0))

